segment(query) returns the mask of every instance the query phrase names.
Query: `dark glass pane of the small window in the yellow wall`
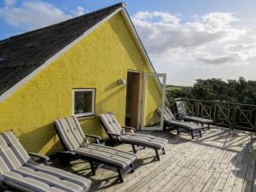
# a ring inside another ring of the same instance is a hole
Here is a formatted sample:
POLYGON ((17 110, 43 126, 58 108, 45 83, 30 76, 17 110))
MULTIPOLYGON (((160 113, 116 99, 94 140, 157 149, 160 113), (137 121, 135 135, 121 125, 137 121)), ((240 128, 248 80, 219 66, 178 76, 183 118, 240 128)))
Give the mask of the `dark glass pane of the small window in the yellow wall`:
POLYGON ((74 113, 91 113, 92 112, 92 91, 75 92, 74 113))

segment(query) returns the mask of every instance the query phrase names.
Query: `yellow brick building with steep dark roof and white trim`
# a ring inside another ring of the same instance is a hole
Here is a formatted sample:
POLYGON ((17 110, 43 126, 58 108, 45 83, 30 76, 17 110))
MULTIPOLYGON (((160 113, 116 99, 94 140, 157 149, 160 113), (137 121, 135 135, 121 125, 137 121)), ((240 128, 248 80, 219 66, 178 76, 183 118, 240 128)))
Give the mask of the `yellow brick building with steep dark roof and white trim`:
POLYGON ((123 3, 0 41, 0 131, 28 151, 59 150, 53 122, 67 115, 100 136, 103 112, 155 125, 164 90, 123 3))

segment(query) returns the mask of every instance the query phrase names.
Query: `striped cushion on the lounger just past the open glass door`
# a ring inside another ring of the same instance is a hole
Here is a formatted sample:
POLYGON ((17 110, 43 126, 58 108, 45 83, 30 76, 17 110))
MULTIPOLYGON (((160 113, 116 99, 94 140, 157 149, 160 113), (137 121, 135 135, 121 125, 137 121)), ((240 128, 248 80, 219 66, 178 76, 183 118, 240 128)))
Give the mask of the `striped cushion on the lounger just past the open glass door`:
MULTIPOLYGON (((160 108, 157 109, 157 112, 161 113, 160 108)), ((164 115, 164 120, 165 120, 167 125, 173 125, 173 126, 177 126, 177 127, 180 127, 180 128, 187 129, 187 130, 198 130, 198 129, 201 129, 200 125, 196 125, 194 123, 185 122, 185 121, 182 121, 182 120, 177 120, 175 118, 175 116, 173 115, 172 111, 169 108, 167 108, 167 107, 164 108, 163 115, 164 115)))

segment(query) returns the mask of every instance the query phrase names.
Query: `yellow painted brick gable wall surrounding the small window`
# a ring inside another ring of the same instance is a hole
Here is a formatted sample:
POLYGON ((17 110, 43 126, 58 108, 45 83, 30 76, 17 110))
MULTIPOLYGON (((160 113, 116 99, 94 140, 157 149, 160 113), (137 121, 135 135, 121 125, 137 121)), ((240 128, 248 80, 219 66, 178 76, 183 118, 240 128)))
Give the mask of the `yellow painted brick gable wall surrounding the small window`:
MULTIPOLYGON (((112 111, 124 124, 126 90, 117 79, 126 79, 127 69, 149 72, 117 14, 0 102, 0 131, 13 129, 28 151, 51 154, 61 149, 53 121, 72 114, 73 88, 96 88, 96 114, 112 111)), ((154 103, 158 91, 152 84, 148 101, 154 103)), ((84 132, 103 135, 96 117, 80 123, 84 132)))

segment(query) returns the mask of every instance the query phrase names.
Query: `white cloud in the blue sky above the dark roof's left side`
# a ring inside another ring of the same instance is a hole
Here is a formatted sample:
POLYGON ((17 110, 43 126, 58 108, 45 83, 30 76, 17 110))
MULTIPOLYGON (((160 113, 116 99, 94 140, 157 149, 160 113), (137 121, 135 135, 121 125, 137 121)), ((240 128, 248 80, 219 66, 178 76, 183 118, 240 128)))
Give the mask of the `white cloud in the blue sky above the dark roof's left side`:
POLYGON ((26 1, 17 7, 15 0, 5 0, 5 6, 0 8, 0 18, 2 17, 11 26, 32 30, 83 15, 85 12, 87 12, 86 9, 78 7, 72 10, 71 14, 66 14, 54 5, 43 1, 26 1))

